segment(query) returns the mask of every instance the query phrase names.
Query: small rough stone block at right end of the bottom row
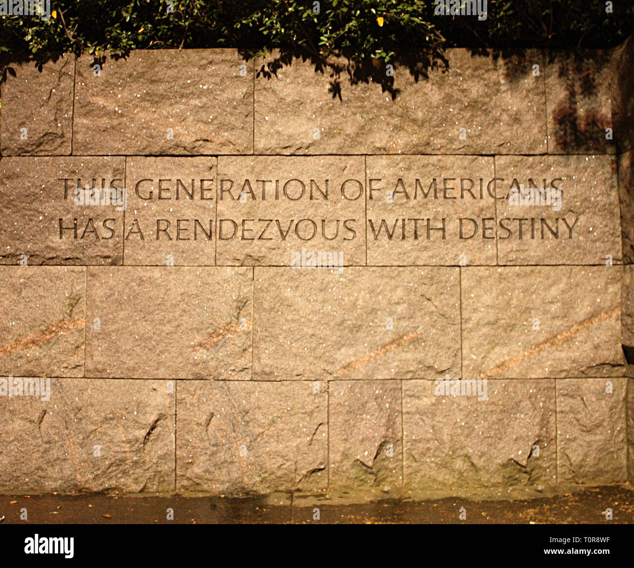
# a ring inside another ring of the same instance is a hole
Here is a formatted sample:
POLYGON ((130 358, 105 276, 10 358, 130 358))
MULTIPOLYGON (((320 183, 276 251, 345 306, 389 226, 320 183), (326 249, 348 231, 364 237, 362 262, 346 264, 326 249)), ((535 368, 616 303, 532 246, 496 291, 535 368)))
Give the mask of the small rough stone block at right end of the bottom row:
POLYGON ((557 380, 560 482, 627 481, 626 382, 626 378, 557 380))

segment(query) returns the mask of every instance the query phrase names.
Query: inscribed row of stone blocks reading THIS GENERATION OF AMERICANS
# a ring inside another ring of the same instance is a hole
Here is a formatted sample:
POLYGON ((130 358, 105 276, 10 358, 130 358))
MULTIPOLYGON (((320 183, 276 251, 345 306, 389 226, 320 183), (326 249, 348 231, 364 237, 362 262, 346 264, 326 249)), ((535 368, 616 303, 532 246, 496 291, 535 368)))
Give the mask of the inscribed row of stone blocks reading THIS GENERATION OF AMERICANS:
MULTIPOLYGON (((342 266, 497 264, 500 254, 531 264, 538 242, 569 258, 575 241, 596 245, 589 252, 577 245, 594 255, 590 264, 620 256, 618 218, 605 227, 593 217, 597 188, 616 193, 597 165, 579 176, 543 165, 496 171, 488 157, 454 157, 463 161, 454 169, 433 160, 417 167, 420 157, 125 159, 122 171, 73 164, 54 179, 42 172, 30 192, 37 193, 32 215, 44 215, 37 226, 22 219, 30 224, 24 234, 37 232, 36 243, 60 251, 101 249, 96 264, 288 266, 301 251, 302 262, 306 251, 309 261, 313 253, 339 254, 342 266)), ((3 190, 11 193, 14 183, 3 190)), ((34 263, 46 263, 29 248, 34 263)))

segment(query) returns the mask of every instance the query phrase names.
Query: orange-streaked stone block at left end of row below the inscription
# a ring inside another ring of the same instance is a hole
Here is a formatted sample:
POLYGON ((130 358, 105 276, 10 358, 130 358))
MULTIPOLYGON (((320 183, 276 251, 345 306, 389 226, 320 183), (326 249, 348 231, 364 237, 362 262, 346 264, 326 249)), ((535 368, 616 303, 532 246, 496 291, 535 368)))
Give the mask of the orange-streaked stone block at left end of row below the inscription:
POLYGON ((0 266, 0 374, 84 374, 86 269, 0 266))

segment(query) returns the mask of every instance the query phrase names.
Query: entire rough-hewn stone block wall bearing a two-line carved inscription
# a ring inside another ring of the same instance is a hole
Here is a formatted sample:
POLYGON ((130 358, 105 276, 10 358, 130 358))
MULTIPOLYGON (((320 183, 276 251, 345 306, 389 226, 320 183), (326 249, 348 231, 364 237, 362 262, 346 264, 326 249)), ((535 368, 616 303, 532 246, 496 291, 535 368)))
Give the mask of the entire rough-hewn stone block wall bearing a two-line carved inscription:
POLYGON ((445 55, 13 65, 0 491, 632 479, 634 46, 445 55))

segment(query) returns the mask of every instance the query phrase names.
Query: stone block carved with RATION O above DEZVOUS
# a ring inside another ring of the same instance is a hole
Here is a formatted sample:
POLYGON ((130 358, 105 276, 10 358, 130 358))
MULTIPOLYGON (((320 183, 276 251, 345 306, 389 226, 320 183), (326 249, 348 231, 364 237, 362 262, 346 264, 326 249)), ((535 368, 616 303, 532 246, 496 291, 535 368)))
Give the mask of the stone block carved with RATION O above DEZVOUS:
POLYGON ((363 157, 221 156, 218 180, 218 264, 288 266, 304 248, 365 264, 363 157))

